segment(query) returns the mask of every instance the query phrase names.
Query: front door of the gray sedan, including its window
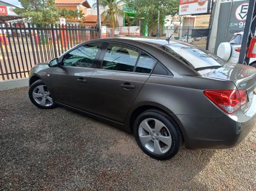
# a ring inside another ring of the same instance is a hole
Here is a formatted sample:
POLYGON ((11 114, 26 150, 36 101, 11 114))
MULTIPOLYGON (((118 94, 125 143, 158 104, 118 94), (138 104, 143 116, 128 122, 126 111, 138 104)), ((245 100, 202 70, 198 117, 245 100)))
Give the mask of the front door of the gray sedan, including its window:
POLYGON ((52 72, 53 96, 56 102, 90 110, 90 77, 100 53, 100 43, 78 46, 67 52, 62 67, 52 72))

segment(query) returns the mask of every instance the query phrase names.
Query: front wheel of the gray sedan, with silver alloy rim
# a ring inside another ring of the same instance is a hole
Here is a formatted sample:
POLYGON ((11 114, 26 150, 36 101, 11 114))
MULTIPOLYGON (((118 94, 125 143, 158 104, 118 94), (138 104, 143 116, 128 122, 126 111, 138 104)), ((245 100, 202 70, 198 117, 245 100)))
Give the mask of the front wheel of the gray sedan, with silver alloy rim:
POLYGON ((52 109, 55 107, 50 92, 42 80, 37 80, 30 86, 29 98, 38 108, 52 109))

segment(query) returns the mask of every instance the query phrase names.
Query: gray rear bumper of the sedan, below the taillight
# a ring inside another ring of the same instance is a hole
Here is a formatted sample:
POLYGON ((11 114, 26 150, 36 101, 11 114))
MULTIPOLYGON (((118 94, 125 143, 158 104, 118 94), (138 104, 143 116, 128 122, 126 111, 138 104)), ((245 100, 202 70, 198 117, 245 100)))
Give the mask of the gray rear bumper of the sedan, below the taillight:
POLYGON ((187 148, 218 149, 238 145, 256 126, 256 95, 245 113, 218 117, 177 115, 187 148))

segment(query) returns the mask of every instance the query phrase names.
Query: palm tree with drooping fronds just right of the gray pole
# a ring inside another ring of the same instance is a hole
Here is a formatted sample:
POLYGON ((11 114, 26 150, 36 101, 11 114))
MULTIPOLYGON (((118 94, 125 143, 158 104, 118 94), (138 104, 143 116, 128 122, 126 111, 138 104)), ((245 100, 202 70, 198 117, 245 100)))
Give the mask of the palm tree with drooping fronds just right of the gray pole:
MULTIPOLYGON (((101 16, 104 17, 103 24, 106 25, 110 23, 110 27, 115 30, 118 26, 117 16, 123 16, 124 12, 118 9, 118 0, 99 0, 99 4, 106 9, 101 16)), ((96 7, 96 3, 93 4, 93 8, 96 7)))

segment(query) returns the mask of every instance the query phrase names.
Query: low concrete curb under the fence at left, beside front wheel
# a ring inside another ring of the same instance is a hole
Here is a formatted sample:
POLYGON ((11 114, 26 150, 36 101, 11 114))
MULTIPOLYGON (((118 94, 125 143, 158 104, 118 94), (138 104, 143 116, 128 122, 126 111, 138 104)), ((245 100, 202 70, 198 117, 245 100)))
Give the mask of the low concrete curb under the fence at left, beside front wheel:
POLYGON ((0 91, 29 86, 29 78, 14 79, 14 80, 0 80, 0 91))

